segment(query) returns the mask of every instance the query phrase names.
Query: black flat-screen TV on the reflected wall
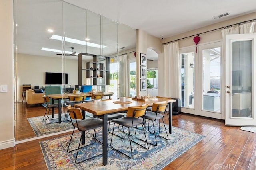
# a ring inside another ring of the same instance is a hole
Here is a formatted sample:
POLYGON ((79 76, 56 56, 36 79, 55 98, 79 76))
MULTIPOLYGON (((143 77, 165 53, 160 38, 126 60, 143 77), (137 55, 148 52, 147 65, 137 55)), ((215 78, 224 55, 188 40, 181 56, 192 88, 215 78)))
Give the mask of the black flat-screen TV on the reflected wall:
MULTIPOLYGON (((68 84, 68 73, 63 73, 64 84, 68 84)), ((46 72, 45 84, 62 84, 62 73, 46 72)))

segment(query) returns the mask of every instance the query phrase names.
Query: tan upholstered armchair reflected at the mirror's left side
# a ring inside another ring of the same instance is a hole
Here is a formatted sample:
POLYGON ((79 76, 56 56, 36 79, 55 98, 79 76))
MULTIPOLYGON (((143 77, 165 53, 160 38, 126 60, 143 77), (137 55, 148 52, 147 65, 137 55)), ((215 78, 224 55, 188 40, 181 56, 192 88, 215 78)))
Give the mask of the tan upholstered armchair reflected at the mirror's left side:
POLYGON ((27 106, 29 106, 30 104, 44 103, 44 99, 43 99, 44 95, 45 93, 35 93, 35 91, 32 89, 26 90, 27 106))

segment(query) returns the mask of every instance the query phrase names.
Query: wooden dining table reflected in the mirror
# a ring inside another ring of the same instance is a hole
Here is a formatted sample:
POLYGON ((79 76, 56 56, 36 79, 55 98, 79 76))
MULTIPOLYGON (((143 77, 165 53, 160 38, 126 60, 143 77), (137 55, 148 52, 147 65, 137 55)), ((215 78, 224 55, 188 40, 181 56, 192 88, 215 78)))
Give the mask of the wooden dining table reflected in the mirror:
MULTIPOLYGON (((52 104, 54 104, 54 100, 58 100, 58 123, 61 123, 61 107, 64 106, 62 105, 62 100, 64 99, 70 99, 70 96, 83 96, 85 95, 86 97, 92 96, 92 94, 97 94, 97 93, 91 93, 91 92, 86 92, 86 93, 63 93, 63 94, 48 94, 47 96, 49 98, 52 98, 52 104)), ((113 92, 103 92, 103 96, 107 96, 107 98, 112 98, 113 92)), ((54 108, 52 108, 52 118, 54 118, 54 108)))

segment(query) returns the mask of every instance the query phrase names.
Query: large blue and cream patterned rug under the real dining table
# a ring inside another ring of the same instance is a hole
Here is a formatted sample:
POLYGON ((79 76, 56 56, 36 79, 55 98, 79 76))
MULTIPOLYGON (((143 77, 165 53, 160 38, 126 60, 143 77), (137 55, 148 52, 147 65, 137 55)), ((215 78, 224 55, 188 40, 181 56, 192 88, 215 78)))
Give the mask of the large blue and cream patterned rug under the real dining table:
MULTIPOLYGON (((110 125, 111 126, 111 125, 110 125)), ((161 124, 162 130, 163 124, 161 124)), ((151 127, 150 127, 151 128, 151 127)), ((117 129, 117 128, 115 128, 117 129)), ((156 128, 158 129, 158 128, 156 128)), ((126 131, 127 129, 125 129, 126 131)), ((116 133, 122 133, 120 131, 115 131, 116 133)), ((137 131, 136 136, 139 133, 139 136, 143 139, 143 132, 137 131)), ((86 144, 88 145, 94 139, 92 138, 93 131, 86 132, 86 144)), ((154 135, 148 133, 146 131, 146 137, 148 141, 152 142, 154 139, 154 135)), ((133 131, 134 134, 134 131, 133 131)), ((96 130, 97 139, 102 140, 102 128, 98 128, 96 130)), ((164 135, 164 133, 161 133, 164 135)), ((166 134, 165 134, 166 135, 166 134)), ((190 149, 193 145, 198 143, 200 140, 204 138, 203 135, 192 133, 186 131, 184 129, 173 127, 173 133, 168 134, 169 140, 163 139, 161 137, 157 137, 157 146, 153 146, 149 144, 149 149, 144 149, 141 146, 132 143, 133 150, 133 158, 128 158, 124 154, 113 150, 110 147, 111 133, 108 133, 108 164, 106 166, 102 166, 102 155, 97 156, 95 158, 86 160, 81 162, 80 164, 75 164, 76 152, 77 150, 67 153, 67 147, 70 140, 71 135, 65 135, 62 137, 57 137, 54 139, 49 139, 46 141, 41 141, 40 145, 42 148, 42 152, 44 154, 44 158, 49 170, 62 170, 62 169, 94 169, 94 170, 138 170, 138 169, 154 169, 158 170, 182 153, 186 152, 186 150, 190 149)), ((73 139, 70 144, 70 150, 76 149, 78 147, 78 143, 80 140, 80 132, 74 133, 73 139)), ((135 138, 133 137, 133 140, 135 138)), ((125 139, 120 139, 116 136, 113 136, 113 145, 115 147, 119 147, 123 151, 129 154, 130 152, 130 143, 128 136, 126 135, 125 139), (127 147, 126 147, 127 146, 127 147)), ((143 141, 140 141, 140 144, 145 145, 143 141)), ((93 145, 82 148, 78 153, 78 161, 92 157, 95 154, 102 153, 102 144, 100 142, 96 142, 93 145)))

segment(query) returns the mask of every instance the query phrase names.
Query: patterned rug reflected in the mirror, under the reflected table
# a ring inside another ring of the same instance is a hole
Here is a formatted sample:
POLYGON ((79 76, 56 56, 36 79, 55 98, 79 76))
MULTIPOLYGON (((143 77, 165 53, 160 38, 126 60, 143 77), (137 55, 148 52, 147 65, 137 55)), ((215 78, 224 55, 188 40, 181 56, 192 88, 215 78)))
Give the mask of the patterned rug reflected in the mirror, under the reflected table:
POLYGON ((28 122, 30 123, 32 129, 36 133, 36 136, 73 129, 72 123, 65 117, 61 119, 62 123, 59 124, 58 114, 54 115, 54 119, 52 119, 52 115, 50 115, 50 123, 48 124, 46 124, 46 122, 43 121, 43 117, 44 116, 28 118, 28 122))

